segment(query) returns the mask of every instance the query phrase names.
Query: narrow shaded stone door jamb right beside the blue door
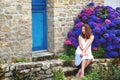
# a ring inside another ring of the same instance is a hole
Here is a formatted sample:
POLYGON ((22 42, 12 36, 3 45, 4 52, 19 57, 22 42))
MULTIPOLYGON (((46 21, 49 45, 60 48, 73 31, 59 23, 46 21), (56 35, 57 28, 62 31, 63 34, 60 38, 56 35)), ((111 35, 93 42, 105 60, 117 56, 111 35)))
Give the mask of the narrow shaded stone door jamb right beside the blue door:
POLYGON ((54 52, 54 0, 47 0, 48 51, 54 52))

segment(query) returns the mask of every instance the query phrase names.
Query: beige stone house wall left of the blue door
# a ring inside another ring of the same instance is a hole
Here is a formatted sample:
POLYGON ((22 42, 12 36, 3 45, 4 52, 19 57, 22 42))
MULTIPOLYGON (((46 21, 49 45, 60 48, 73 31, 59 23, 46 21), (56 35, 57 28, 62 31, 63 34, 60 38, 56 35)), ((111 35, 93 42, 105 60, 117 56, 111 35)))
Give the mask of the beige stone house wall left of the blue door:
POLYGON ((0 63, 31 58, 31 0, 0 0, 0 63))

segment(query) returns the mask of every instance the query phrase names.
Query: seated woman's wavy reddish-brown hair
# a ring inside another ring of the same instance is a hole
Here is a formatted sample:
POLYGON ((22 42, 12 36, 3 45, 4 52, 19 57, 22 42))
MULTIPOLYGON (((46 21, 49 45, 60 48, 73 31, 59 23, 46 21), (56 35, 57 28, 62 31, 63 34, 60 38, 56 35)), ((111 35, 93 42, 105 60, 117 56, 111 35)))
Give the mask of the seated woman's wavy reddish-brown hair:
POLYGON ((81 27, 81 36, 82 36, 83 38, 89 39, 89 38, 90 38, 90 35, 92 34, 92 33, 91 33, 91 28, 90 28, 90 26, 87 25, 87 24, 84 24, 84 25, 82 25, 82 27, 81 27), (85 27, 85 34, 82 33, 82 27, 85 27))

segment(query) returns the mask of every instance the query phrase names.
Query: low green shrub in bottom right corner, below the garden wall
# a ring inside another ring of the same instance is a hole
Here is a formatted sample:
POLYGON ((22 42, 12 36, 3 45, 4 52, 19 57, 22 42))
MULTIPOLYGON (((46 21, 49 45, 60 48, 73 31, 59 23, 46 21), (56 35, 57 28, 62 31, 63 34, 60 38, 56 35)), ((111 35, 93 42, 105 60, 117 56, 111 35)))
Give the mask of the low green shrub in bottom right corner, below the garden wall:
POLYGON ((99 65, 95 69, 87 69, 85 78, 82 80, 120 80, 120 67, 114 66, 109 63, 107 68, 103 65, 99 65))

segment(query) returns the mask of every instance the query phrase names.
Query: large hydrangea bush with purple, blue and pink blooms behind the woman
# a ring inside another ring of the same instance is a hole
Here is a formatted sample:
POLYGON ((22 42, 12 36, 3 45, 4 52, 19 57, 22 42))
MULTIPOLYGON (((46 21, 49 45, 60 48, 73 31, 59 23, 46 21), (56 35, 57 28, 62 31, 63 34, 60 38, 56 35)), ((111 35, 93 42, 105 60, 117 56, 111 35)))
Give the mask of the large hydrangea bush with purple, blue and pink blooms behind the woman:
POLYGON ((68 32, 65 45, 75 48, 78 46, 78 36, 83 24, 88 24, 95 36, 93 50, 97 51, 100 45, 107 58, 120 57, 120 7, 113 9, 89 3, 74 20, 74 27, 68 32))

